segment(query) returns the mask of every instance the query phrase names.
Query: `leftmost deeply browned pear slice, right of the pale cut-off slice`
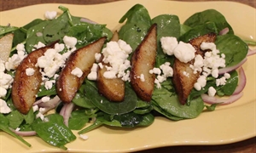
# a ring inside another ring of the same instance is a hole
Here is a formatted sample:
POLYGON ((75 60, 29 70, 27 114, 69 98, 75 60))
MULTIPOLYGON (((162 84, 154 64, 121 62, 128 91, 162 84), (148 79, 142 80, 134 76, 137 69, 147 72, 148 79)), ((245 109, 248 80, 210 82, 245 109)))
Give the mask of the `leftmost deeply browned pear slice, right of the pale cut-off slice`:
POLYGON ((55 42, 44 48, 38 48, 26 56, 18 65, 12 88, 13 103, 18 111, 27 114, 36 100, 36 95, 42 82, 39 67, 36 66, 38 58, 43 56, 49 48, 54 48, 55 42), (34 70, 32 75, 26 74, 26 69, 34 70))

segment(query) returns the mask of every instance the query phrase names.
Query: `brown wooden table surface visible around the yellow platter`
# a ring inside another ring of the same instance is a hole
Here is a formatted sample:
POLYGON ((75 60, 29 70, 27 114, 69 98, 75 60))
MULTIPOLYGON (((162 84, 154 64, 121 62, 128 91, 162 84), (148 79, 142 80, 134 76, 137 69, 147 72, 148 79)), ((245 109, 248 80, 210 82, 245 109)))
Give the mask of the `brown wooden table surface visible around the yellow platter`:
MULTIPOLYGON (((73 3, 73 4, 95 4, 95 3, 109 3, 116 0, 0 0, 0 11, 9 10, 12 8, 20 8, 38 3, 73 3)), ((177 0, 177 1, 207 1, 207 0, 177 0)), ((215 0, 220 1, 220 0, 215 0)), ((229 0, 238 3, 244 3, 256 8, 256 0, 229 0)), ((164 148, 157 148, 152 150, 138 151, 137 153, 256 153, 256 137, 246 139, 241 142, 223 145, 186 145, 186 146, 171 146, 164 148)))

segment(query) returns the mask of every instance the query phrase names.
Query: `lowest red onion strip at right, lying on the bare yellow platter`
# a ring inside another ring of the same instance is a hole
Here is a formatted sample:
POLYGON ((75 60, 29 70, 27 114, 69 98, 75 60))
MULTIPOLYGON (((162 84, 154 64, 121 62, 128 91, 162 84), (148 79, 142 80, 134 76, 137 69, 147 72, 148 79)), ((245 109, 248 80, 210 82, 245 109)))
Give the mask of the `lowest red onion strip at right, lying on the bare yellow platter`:
POLYGON ((201 98, 203 99, 204 102, 208 104, 218 104, 219 105, 229 105, 231 103, 234 103, 237 99, 240 99, 242 96, 242 92, 239 94, 233 94, 230 95, 229 98, 224 99, 224 98, 218 98, 218 97, 210 97, 207 94, 201 94, 201 98))

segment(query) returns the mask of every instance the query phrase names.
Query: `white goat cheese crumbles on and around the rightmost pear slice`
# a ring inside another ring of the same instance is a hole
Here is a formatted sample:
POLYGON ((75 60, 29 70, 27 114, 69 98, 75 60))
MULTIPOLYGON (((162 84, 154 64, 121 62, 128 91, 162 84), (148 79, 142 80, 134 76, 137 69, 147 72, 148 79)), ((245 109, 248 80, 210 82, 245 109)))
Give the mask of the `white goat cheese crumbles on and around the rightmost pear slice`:
MULTIPOLYGON (((225 73, 224 77, 218 78, 218 68, 225 67, 225 55, 219 54, 220 52, 216 48, 215 43, 201 43, 202 50, 210 50, 205 53, 204 57, 202 57, 200 54, 195 55, 195 48, 190 43, 177 42, 176 37, 161 37, 160 42, 161 48, 163 49, 163 52, 165 54, 174 55, 183 63, 187 63, 192 59, 195 60, 194 64, 189 65, 189 67, 194 70, 194 73, 201 73, 201 77, 199 77, 197 79, 197 82, 195 82, 194 84, 194 88, 196 90, 199 91, 206 86, 207 77, 209 75, 212 75, 212 77, 216 78, 217 87, 220 85, 224 85, 226 80, 230 78, 229 73, 225 73)), ((149 72, 159 75, 159 70, 157 69, 151 70, 149 72)), ((189 74, 186 71, 183 72, 183 75, 189 77, 189 74)), ((161 80, 162 79, 155 81, 158 88, 160 88, 161 80)), ((216 94, 216 91, 214 90, 212 88, 209 88, 208 94, 211 96, 216 94)))

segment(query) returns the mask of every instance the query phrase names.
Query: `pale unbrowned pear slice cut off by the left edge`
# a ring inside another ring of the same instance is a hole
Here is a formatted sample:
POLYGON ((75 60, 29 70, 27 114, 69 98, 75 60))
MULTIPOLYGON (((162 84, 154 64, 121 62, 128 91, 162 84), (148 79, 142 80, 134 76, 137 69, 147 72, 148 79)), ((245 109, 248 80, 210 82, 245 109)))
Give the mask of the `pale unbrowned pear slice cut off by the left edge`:
POLYGON ((0 59, 3 61, 8 61, 9 59, 9 54, 12 49, 13 45, 13 39, 14 39, 14 34, 9 33, 3 37, 0 38, 0 59))

